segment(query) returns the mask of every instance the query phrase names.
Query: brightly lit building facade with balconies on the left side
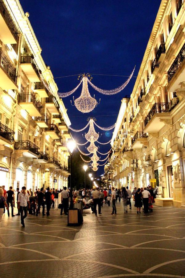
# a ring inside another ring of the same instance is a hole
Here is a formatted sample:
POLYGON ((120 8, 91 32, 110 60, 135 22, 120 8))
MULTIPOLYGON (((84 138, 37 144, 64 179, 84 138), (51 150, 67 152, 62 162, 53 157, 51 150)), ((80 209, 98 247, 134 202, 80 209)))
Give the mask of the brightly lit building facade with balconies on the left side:
POLYGON ((18 0, 0 0, 0 185, 68 183, 71 124, 18 0))

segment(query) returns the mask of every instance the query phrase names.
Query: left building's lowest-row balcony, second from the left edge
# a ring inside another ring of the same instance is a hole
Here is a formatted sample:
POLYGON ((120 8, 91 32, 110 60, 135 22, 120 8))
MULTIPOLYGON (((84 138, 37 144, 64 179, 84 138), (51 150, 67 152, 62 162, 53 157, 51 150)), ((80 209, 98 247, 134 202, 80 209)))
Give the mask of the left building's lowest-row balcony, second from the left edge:
POLYGON ((23 154, 23 156, 28 158, 38 158, 39 155, 39 147, 30 140, 15 141, 14 149, 20 151, 20 156, 23 154))

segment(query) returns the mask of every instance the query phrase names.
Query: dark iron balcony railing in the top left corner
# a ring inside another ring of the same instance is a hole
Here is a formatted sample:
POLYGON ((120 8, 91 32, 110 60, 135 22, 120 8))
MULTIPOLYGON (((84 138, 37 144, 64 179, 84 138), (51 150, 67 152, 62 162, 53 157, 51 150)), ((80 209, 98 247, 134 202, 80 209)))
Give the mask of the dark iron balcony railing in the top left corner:
POLYGON ((4 2, 2 0, 0 0, 0 12, 1 12, 2 17, 4 18, 4 20, 6 21, 6 24, 10 28, 13 36, 17 40, 19 31, 18 31, 14 21, 11 18, 11 15, 10 15, 9 11, 7 10, 5 4, 4 4, 4 2))

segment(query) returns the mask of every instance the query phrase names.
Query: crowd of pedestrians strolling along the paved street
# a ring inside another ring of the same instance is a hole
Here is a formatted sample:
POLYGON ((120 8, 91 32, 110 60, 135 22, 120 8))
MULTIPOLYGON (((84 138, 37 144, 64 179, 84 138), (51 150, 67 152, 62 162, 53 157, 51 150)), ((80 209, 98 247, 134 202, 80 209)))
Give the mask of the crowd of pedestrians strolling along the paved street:
MULTIPOLYGON (((42 207, 42 215, 45 216, 45 206, 46 206, 46 215, 50 215, 50 209, 55 210, 60 209, 60 215, 63 213, 68 215, 69 207, 69 196, 70 191, 67 187, 64 189, 55 189, 47 187, 46 189, 38 188, 34 193, 32 190, 26 190, 26 187, 22 187, 22 190, 19 191, 19 188, 16 189, 17 192, 17 216, 21 218, 21 224, 24 225, 24 219, 27 217, 27 211, 30 214, 38 216, 42 207)), ((112 213, 111 215, 117 214, 116 203, 117 201, 123 203, 124 213, 128 213, 127 207, 129 206, 132 209, 131 198, 135 201, 134 206, 137 208, 137 213, 141 213, 141 208, 143 206, 143 212, 148 213, 149 208, 153 208, 153 203, 155 199, 155 194, 153 188, 144 187, 138 188, 134 187, 133 192, 130 191, 128 186, 122 187, 121 189, 112 189, 108 188, 93 188, 91 190, 81 189, 75 190, 72 192, 73 203, 81 202, 83 204, 83 209, 90 208, 92 213, 97 215, 97 206, 98 214, 101 214, 101 207, 103 204, 110 206, 112 202, 112 213)), ((0 187, 0 221, 2 219, 3 213, 5 213, 5 207, 7 209, 8 217, 10 217, 9 206, 11 206, 11 216, 14 217, 14 207, 15 207, 15 194, 12 187, 9 187, 9 190, 5 190, 5 186, 0 187)))

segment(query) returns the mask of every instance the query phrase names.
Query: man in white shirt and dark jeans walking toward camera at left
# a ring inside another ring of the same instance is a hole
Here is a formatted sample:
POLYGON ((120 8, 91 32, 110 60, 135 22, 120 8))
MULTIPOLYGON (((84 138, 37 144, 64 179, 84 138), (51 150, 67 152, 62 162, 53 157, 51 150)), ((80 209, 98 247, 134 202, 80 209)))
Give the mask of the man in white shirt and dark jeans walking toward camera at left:
POLYGON ((23 225, 23 228, 25 227, 24 225, 24 218, 27 217, 28 209, 30 209, 30 199, 28 193, 25 192, 26 187, 22 187, 22 192, 19 193, 18 196, 18 205, 17 208, 21 213, 21 224, 23 225), (28 209, 27 209, 28 206, 28 209))

